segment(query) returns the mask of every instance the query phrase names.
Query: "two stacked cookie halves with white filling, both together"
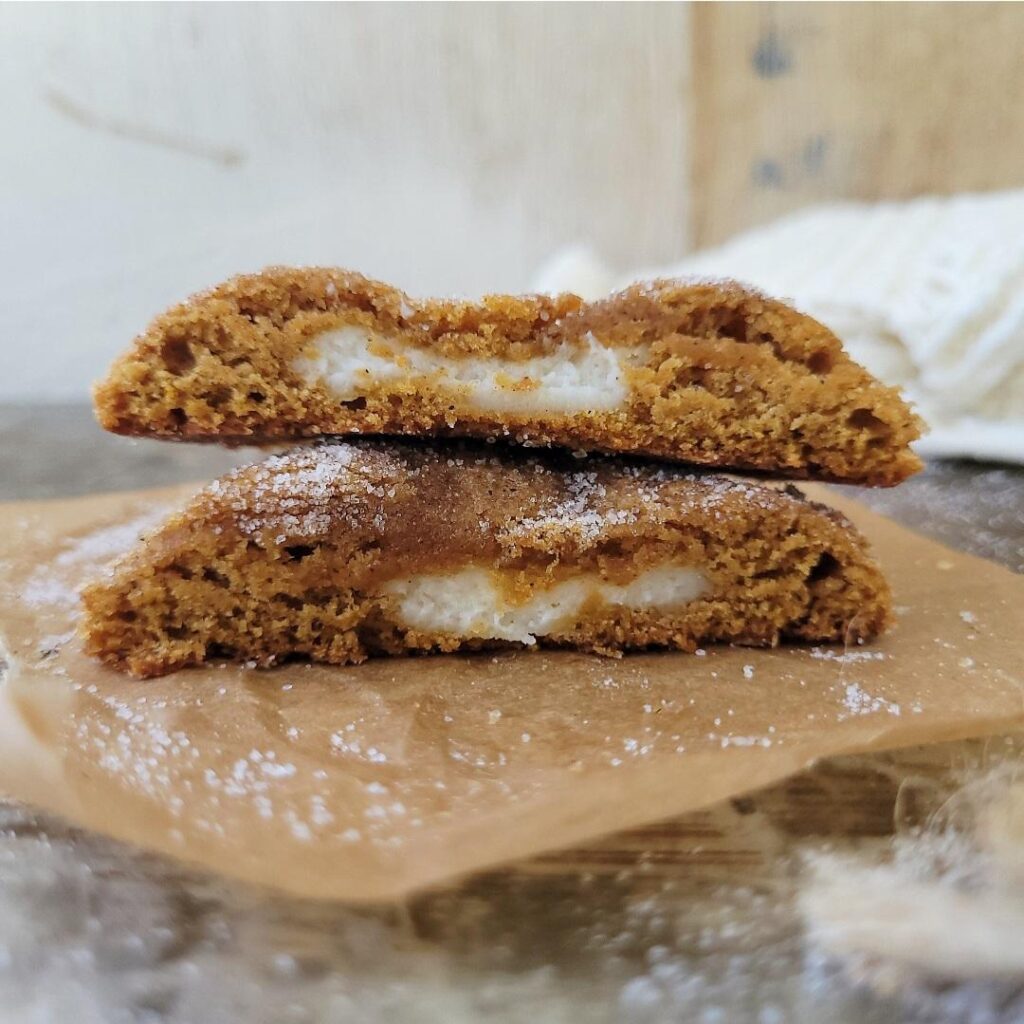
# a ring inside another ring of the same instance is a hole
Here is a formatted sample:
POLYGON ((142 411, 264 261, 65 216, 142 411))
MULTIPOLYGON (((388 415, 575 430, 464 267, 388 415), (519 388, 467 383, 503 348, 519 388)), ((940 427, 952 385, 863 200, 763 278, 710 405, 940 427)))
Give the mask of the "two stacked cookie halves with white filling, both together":
POLYGON ((891 485, 920 465, 894 389, 732 284, 417 302, 271 269, 158 317, 96 407, 135 436, 305 442, 85 591, 87 649, 139 676, 870 637, 889 593, 850 523, 710 467, 891 485))

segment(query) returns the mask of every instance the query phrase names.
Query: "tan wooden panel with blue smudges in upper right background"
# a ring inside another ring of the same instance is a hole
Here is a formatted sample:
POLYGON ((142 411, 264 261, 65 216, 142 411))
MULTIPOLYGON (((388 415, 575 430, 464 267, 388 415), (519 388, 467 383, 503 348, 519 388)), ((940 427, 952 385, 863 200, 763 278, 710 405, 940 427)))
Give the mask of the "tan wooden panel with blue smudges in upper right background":
POLYGON ((696 244, 829 199, 1024 184, 1022 44, 1021 4, 696 4, 696 244))

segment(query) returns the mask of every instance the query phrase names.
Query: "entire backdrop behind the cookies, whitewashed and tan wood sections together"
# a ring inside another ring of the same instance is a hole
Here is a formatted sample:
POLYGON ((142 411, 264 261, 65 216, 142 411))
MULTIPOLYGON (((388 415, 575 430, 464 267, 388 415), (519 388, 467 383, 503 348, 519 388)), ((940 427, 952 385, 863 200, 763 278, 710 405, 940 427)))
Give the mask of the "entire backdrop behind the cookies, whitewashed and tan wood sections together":
POLYGON ((626 271, 1024 183, 1022 38, 1019 4, 0 5, 0 400, 84 398, 266 263, 518 291, 573 243, 626 271))

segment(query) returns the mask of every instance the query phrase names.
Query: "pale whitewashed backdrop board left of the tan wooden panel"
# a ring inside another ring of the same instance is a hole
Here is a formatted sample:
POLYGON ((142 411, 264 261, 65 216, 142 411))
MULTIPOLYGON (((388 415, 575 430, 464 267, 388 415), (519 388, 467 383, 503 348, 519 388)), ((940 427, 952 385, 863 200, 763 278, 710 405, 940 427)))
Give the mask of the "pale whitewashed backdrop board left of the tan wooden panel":
POLYGON ((688 241, 688 11, 0 5, 0 399, 84 397, 164 306, 267 263, 521 290, 688 241))

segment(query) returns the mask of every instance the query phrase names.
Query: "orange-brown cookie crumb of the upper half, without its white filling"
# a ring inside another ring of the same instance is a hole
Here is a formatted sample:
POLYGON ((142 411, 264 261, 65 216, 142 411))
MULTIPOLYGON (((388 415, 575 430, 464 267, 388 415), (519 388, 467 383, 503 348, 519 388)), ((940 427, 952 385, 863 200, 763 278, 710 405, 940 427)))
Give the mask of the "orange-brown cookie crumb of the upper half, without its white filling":
POLYGON ((117 433, 272 442, 319 434, 510 436, 792 477, 891 485, 920 468, 920 422, 822 325, 732 283, 417 301, 357 273, 274 267, 159 316, 95 390, 117 433), (293 367, 325 331, 356 325, 446 357, 523 359, 594 337, 644 347, 623 409, 511 416, 395 383, 342 401, 293 367))

